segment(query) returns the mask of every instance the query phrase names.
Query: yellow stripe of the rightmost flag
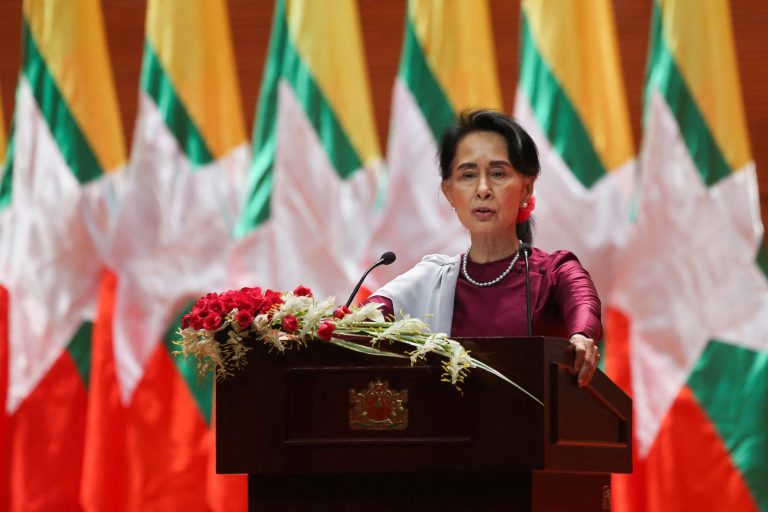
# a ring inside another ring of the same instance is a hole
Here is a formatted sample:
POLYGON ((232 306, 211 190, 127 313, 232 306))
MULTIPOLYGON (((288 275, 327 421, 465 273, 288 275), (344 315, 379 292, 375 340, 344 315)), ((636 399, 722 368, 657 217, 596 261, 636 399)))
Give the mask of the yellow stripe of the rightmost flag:
POLYGON ((661 0, 664 40, 733 170, 752 160, 726 0, 661 0), (687 30, 686 27, 699 27, 687 30))

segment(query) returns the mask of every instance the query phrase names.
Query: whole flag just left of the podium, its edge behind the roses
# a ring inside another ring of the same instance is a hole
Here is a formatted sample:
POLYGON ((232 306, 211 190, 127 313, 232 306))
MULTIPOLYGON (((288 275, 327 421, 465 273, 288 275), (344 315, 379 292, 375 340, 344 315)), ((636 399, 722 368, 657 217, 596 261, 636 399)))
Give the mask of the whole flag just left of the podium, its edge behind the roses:
POLYGON ((213 383, 173 355, 172 341, 189 303, 224 286, 247 161, 226 3, 148 2, 138 120, 94 334, 89 508, 245 504, 244 481, 218 495, 213 383))

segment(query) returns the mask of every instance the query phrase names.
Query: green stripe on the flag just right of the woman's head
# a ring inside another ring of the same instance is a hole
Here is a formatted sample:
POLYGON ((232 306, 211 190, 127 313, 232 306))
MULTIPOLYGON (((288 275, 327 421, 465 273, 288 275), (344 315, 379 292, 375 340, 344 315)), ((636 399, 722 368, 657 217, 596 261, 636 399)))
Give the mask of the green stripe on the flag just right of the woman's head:
POLYGON ((605 176, 605 167, 578 112, 539 53, 525 15, 521 25, 520 87, 552 147, 589 188, 605 176))

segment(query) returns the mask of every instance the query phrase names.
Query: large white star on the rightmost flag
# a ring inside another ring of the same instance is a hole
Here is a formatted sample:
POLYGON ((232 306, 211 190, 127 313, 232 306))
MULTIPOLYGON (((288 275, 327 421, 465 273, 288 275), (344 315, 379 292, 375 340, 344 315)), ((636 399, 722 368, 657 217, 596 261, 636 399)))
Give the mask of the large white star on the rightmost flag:
POLYGON ((710 340, 759 350, 768 340, 768 283, 754 262, 762 238, 752 228, 760 225, 754 168, 708 188, 656 92, 648 123, 638 220, 611 297, 632 318, 641 456, 710 340))

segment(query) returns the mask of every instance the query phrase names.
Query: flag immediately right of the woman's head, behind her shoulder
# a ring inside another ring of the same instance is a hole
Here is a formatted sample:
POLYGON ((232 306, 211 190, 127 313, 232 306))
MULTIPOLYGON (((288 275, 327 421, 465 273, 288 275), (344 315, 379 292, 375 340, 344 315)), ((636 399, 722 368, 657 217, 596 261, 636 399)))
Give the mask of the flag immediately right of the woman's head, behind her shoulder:
POLYGON ((604 296, 635 163, 611 2, 525 0, 520 19, 515 115, 541 160, 534 242, 573 251, 604 296))

